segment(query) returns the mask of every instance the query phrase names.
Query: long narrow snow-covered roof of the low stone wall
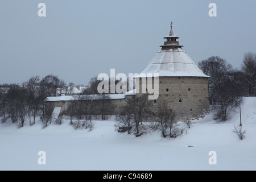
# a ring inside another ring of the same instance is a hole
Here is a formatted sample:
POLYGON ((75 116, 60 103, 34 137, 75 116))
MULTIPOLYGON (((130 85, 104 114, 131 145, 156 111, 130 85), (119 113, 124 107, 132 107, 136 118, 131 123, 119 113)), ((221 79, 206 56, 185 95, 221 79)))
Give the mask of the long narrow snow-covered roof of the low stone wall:
MULTIPOLYGON (((128 95, 135 95, 135 90, 130 90, 129 92, 122 94, 106 94, 109 96, 110 100, 123 99, 128 95)), ((91 94, 91 95, 76 95, 76 96, 57 96, 57 97, 47 97, 44 101, 55 102, 55 101, 75 101, 75 100, 101 100, 102 94, 91 94)))

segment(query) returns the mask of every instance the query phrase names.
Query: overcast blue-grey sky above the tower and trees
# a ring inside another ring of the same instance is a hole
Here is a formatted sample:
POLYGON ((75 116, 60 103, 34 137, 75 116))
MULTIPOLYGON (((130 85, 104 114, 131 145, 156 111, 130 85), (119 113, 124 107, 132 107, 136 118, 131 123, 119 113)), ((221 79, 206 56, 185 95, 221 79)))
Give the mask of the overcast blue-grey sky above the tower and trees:
POLYGON ((0 84, 53 74, 87 85, 99 73, 139 73, 173 30, 195 63, 220 56, 240 68, 256 52, 256 1, 1 0, 0 84), (46 17, 38 4, 46 4, 46 17), (209 3, 217 5, 210 17, 209 3))

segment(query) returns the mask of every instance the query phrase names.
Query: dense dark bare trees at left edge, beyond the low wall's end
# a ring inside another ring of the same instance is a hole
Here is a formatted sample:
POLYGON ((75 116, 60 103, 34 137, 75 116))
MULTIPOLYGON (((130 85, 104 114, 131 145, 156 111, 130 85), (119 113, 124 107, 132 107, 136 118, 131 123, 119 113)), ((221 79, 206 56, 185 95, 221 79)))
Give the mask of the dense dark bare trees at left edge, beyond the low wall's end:
POLYGON ((40 79, 33 76, 22 84, 0 85, 0 117, 1 122, 11 121, 24 125, 29 118, 30 125, 35 123, 37 115, 44 115, 44 100, 49 96, 58 96, 67 86, 65 82, 54 75, 40 79))

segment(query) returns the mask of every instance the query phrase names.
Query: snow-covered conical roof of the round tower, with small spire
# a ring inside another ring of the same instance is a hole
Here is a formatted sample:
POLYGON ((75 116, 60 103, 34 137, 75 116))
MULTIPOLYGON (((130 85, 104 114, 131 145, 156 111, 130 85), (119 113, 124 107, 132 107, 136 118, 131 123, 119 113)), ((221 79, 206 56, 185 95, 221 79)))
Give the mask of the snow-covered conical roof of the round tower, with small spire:
POLYGON ((197 67, 196 63, 181 48, 179 42, 176 42, 177 36, 172 30, 172 26, 169 36, 165 38, 167 42, 160 46, 162 49, 156 53, 141 73, 145 73, 146 76, 147 73, 158 73, 159 77, 209 77, 197 67))

